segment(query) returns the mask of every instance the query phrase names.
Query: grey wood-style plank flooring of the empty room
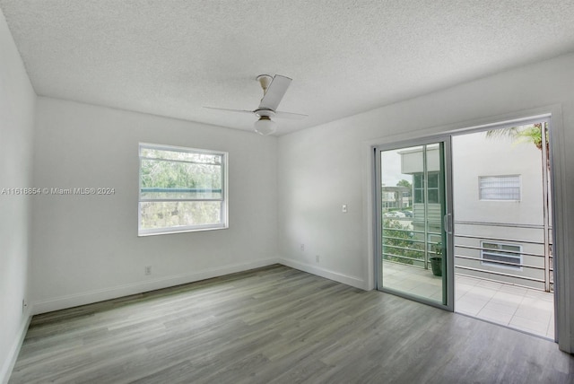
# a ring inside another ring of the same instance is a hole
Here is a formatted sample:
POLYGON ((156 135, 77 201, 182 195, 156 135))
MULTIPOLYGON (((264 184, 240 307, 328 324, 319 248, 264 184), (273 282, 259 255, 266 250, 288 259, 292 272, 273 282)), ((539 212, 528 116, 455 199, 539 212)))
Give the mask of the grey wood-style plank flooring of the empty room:
POLYGON ((268 266, 34 316, 16 383, 571 383, 549 340, 268 266))

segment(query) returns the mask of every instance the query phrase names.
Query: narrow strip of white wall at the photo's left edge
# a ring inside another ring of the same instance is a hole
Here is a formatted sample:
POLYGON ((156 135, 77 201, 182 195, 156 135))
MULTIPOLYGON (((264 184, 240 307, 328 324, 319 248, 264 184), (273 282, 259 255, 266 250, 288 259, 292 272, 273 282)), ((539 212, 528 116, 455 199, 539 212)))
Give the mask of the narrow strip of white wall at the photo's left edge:
MULTIPOLYGON (((0 190, 31 187, 36 93, 0 11, 0 190)), ((30 198, 0 194, 0 382, 8 379, 30 313, 30 198)))

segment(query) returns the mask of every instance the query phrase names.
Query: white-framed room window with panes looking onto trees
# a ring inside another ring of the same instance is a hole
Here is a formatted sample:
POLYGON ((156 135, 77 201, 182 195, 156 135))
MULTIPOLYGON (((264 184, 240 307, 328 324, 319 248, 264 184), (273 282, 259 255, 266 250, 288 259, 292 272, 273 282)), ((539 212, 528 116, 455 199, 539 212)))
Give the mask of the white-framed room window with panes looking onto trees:
POLYGON ((138 235, 228 227, 227 153, 140 144, 138 235))

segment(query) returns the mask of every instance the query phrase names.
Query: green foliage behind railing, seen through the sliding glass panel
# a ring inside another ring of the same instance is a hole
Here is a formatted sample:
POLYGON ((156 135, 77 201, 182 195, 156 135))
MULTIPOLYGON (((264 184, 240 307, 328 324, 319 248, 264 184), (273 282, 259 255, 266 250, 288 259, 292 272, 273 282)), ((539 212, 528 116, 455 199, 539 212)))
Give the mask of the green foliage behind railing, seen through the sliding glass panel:
POLYGON ((413 265, 413 258, 423 260, 422 243, 415 240, 414 233, 408 225, 403 225, 398 220, 385 220, 383 223, 383 258, 409 265, 413 265))

